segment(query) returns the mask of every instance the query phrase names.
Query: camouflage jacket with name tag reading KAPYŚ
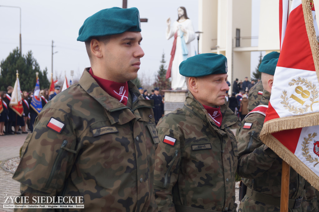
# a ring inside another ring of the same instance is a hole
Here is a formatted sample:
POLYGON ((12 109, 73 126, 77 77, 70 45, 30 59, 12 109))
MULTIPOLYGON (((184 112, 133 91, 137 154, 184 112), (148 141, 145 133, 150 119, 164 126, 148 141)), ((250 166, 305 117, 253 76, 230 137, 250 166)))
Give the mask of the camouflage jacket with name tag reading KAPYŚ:
POLYGON ((161 143, 154 171, 159 211, 175 211, 174 204, 215 211, 237 207, 238 154, 231 129, 241 122, 226 105, 221 106, 221 113, 219 128, 189 92, 182 108, 159 120, 156 128, 161 143))

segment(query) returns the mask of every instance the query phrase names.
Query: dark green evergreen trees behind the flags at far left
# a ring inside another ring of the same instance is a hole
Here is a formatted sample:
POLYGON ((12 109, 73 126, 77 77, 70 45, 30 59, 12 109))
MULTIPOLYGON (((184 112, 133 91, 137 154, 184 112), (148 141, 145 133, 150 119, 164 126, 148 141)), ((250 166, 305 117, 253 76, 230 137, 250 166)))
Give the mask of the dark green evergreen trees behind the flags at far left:
POLYGON ((39 82, 41 89, 49 87, 47 78, 47 68, 40 70, 39 64, 32 56, 32 51, 27 55, 20 56, 18 47, 10 52, 9 56, 0 63, 0 90, 6 91, 9 85, 13 86, 16 81, 17 70, 19 72, 19 82, 21 91, 31 91, 36 83, 36 72, 39 72, 39 82))

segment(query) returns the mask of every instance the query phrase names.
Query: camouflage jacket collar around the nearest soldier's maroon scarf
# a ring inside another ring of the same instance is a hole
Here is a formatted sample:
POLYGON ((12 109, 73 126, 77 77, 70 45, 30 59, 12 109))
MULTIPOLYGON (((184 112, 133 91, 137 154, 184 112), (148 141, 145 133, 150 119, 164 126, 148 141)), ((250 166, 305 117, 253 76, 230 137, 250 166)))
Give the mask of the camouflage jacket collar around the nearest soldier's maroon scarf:
MULTIPOLYGON (((96 101, 98 101, 106 110, 108 119, 112 124, 125 124, 132 119, 143 119, 142 114, 140 114, 138 108, 152 108, 153 101, 146 100, 138 91, 135 84, 128 81, 129 86, 129 97, 127 106, 119 102, 119 100, 110 96, 106 91, 104 91, 99 84, 94 80, 94 78, 89 74, 90 68, 85 68, 84 72, 79 80, 80 86, 96 101), (122 113, 125 112, 123 115, 122 113), (123 117, 123 118, 120 118, 123 117), (125 118, 124 118, 125 117, 125 118)), ((147 120, 149 121, 147 116, 147 120)))

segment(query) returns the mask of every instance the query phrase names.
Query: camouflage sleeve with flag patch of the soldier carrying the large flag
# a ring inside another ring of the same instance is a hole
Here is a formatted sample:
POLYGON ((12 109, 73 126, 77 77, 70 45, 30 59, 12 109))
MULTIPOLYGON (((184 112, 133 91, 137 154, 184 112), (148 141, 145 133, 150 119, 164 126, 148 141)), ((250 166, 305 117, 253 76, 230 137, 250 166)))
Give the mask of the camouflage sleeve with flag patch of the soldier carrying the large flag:
POLYGON ((261 170, 268 170, 277 158, 277 155, 259 138, 263 121, 263 115, 252 113, 242 124, 244 127, 245 123, 251 123, 251 128, 241 127, 236 131, 239 152, 237 172, 242 178, 253 179, 261 176, 263 174, 261 170))

